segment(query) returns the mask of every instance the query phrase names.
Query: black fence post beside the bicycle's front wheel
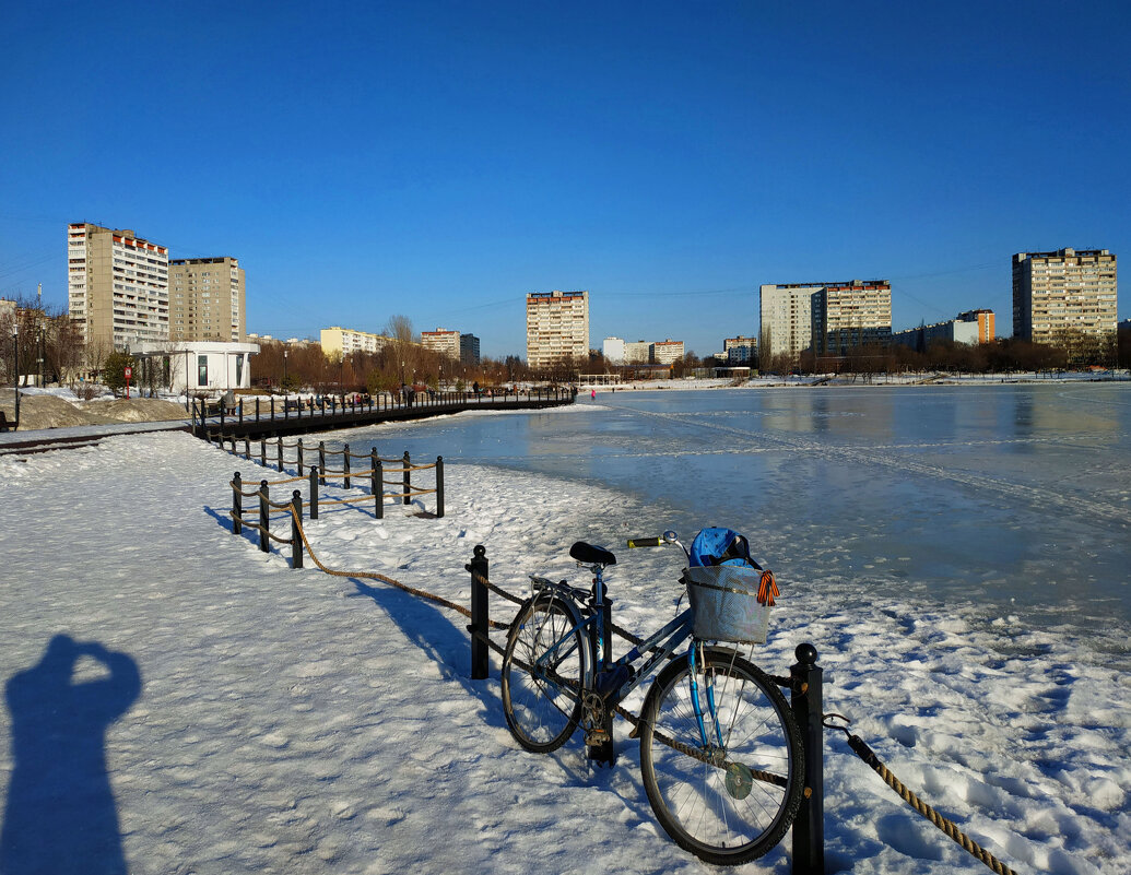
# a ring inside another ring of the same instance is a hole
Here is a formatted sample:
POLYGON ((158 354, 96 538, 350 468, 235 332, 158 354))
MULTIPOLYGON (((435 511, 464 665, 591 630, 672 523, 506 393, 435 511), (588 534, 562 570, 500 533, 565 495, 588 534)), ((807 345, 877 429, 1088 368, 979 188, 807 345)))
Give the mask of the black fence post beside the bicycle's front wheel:
POLYGON ((824 727, 821 724, 823 670, 817 665, 817 648, 797 644, 789 704, 801 727, 805 751, 805 789, 793 822, 793 875, 824 875, 824 727))

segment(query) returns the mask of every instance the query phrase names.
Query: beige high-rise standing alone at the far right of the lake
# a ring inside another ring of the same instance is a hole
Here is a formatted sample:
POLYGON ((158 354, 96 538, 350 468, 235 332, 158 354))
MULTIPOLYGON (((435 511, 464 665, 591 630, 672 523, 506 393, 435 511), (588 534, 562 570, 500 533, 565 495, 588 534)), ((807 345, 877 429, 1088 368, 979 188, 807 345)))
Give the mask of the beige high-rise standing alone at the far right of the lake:
POLYGON ((1061 249, 1013 255, 1013 337, 1071 346, 1115 332, 1115 255, 1061 249))

